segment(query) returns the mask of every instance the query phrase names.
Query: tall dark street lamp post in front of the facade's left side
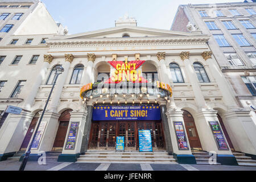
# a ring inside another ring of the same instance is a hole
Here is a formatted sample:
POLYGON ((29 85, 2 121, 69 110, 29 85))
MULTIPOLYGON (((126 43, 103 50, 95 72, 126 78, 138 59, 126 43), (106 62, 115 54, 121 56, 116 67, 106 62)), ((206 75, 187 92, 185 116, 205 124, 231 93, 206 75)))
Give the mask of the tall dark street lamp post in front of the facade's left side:
POLYGON ((56 68, 56 71, 55 71, 55 77, 53 78, 53 85, 52 85, 52 89, 51 89, 51 92, 49 93, 49 96, 48 96, 48 99, 47 99, 47 102, 46 102, 46 105, 44 106, 44 110, 43 110, 43 113, 40 117, 40 120, 38 122, 38 125, 36 127, 36 130, 35 130, 35 133, 34 133, 34 136, 31 140, 31 143, 30 143, 30 146, 28 147, 28 150, 22 160, 22 164, 20 164, 20 167, 19 167, 19 171, 24 171, 25 167, 26 167, 26 164, 27 164, 27 161, 28 161, 28 157, 30 156, 30 153, 31 153, 31 148, 32 148, 32 145, 34 143, 34 140, 35 140, 35 137, 36 137, 36 134, 38 133, 38 129, 39 129, 39 126, 40 126, 40 123, 43 119, 43 116, 44 116, 44 113, 46 111, 46 108, 47 108, 47 105, 48 105, 48 102, 49 102, 49 99, 51 98, 51 94, 52 94, 52 91, 53 91, 53 88, 56 84, 56 81, 57 81, 57 78, 59 77, 59 75, 64 72, 64 68, 61 67, 61 65, 55 67, 56 68))

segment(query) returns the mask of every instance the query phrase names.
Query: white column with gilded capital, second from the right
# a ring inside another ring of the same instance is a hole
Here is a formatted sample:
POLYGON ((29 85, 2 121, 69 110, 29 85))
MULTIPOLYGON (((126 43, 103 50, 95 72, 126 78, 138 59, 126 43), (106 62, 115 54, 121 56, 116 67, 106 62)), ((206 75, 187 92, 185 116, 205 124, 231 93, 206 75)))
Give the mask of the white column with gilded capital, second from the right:
POLYGON ((191 65, 191 61, 189 60, 189 52, 181 52, 180 58, 184 61, 185 64, 185 70, 187 72, 187 76, 189 77, 189 80, 191 81, 191 85, 193 88, 193 93, 196 97, 196 104, 199 106, 200 109, 206 109, 207 104, 205 103, 204 96, 201 92, 200 85, 198 78, 195 73, 195 69, 193 69, 193 66, 191 65))

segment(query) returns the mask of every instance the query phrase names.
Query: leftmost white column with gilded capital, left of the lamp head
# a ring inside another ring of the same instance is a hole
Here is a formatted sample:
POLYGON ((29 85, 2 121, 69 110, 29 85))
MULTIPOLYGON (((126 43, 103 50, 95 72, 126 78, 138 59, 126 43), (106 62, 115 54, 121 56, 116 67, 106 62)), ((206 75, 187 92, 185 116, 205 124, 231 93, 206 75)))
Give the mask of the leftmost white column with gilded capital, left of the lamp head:
POLYGON ((23 109, 31 110, 36 94, 38 93, 39 86, 42 85, 42 80, 46 76, 47 68, 49 67, 49 64, 51 64, 52 60, 52 55, 44 55, 43 67, 41 68, 39 75, 36 78, 34 86, 31 88, 30 94, 28 94, 28 97, 24 101, 23 109))

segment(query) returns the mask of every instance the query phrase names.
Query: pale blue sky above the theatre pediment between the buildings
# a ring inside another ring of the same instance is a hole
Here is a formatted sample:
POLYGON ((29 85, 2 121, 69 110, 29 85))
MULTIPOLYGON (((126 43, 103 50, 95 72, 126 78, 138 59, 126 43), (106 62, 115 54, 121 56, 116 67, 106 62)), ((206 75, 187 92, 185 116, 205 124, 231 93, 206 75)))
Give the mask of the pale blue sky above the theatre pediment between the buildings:
POLYGON ((42 0, 56 22, 69 34, 114 27, 125 14, 137 19, 139 27, 170 30, 179 5, 188 3, 242 2, 242 0, 42 0))

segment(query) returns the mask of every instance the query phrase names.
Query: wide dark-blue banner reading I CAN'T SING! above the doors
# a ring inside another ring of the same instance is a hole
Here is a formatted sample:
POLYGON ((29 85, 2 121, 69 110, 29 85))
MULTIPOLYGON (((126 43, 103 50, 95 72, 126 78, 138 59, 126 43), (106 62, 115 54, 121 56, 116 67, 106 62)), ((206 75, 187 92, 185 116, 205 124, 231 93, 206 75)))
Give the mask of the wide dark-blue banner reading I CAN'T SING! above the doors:
POLYGON ((93 121, 160 120, 159 106, 94 106, 93 121))

